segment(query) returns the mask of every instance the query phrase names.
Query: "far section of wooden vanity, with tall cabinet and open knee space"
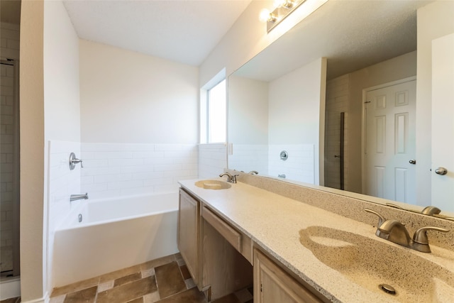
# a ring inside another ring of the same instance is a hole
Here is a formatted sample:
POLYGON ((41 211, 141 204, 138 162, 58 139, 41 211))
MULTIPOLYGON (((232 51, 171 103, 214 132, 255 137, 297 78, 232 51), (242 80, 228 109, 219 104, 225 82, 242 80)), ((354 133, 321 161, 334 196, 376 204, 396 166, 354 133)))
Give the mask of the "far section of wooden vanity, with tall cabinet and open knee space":
POLYGON ((253 285, 250 238, 182 188, 177 232, 179 252, 209 302, 253 285))

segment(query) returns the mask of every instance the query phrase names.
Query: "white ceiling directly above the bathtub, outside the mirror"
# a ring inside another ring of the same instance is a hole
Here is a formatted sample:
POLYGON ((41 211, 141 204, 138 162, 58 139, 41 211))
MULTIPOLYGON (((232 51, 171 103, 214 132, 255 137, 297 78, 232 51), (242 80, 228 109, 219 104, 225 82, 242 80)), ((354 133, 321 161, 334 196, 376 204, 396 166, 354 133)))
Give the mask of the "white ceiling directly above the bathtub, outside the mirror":
POLYGON ((66 0, 63 4, 79 38, 198 66, 250 1, 66 0))

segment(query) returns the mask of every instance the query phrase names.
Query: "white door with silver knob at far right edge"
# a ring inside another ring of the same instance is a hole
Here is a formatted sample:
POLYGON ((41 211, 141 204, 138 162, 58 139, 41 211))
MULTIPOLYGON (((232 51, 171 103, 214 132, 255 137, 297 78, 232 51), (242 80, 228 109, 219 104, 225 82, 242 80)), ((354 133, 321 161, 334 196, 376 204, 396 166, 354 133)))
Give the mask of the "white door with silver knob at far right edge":
POLYGON ((432 204, 454 211, 454 34, 432 41, 432 204), (438 175, 445 167, 446 175, 438 175))

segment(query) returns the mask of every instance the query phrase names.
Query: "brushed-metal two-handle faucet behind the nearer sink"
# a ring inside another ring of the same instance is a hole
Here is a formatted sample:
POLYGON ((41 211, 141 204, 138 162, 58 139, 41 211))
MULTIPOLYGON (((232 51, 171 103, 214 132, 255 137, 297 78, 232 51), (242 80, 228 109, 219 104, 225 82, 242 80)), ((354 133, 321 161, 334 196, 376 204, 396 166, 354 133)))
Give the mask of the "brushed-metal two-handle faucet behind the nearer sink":
POLYGON ((377 231, 375 234, 384 240, 405 246, 414 250, 421 251, 422 253, 430 253, 431 248, 428 246, 427 231, 441 231, 447 233, 449 230, 436 226, 425 226, 415 231, 413 238, 410 237, 409 232, 406 230, 404 224, 397 220, 387 220, 384 216, 372 211, 372 209, 364 209, 370 214, 378 216, 377 231))

